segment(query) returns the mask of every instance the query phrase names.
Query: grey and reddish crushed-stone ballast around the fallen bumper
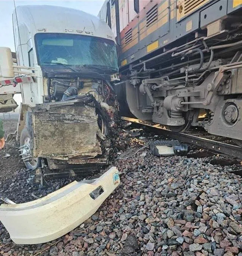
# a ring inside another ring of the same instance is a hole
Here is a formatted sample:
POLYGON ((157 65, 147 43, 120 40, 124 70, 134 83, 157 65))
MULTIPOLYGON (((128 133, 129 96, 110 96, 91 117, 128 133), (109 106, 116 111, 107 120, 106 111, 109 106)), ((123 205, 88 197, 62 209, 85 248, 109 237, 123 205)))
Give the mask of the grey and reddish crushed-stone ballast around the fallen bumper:
MULTIPOLYGON (((230 173, 233 166, 207 160, 155 157, 148 149, 116 160, 121 184, 96 214, 67 235, 39 245, 16 245, 0 225, 0 255, 242 256, 242 178, 230 173)), ((68 182, 41 188, 22 169, 1 178, 0 195, 23 203, 68 182)))

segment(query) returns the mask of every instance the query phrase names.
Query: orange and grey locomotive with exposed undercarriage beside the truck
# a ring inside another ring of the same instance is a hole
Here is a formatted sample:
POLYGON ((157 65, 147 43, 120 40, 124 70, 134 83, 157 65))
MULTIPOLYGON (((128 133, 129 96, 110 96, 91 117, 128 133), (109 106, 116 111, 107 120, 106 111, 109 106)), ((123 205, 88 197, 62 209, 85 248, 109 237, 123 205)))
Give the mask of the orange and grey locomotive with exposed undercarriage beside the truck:
POLYGON ((241 14, 241 0, 107 0, 99 17, 119 44, 121 114, 241 143, 241 14))

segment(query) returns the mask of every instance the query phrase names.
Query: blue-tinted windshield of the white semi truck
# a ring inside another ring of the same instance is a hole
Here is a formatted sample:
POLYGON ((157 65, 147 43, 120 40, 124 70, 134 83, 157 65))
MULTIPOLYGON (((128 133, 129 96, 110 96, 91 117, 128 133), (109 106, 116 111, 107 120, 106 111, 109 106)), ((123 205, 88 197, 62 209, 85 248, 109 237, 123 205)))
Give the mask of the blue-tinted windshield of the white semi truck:
POLYGON ((60 63, 118 71, 116 46, 112 40, 73 34, 38 33, 35 42, 40 66, 60 63))

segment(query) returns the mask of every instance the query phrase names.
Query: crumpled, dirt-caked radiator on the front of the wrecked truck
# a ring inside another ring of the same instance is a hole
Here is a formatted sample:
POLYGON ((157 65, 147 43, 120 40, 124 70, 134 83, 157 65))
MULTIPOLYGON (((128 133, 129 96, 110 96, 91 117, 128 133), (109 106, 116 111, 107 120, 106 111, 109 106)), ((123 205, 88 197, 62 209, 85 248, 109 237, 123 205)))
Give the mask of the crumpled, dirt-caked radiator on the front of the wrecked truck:
POLYGON ((74 157, 90 154, 96 146, 97 116, 68 113, 35 112, 34 155, 42 157, 74 157))

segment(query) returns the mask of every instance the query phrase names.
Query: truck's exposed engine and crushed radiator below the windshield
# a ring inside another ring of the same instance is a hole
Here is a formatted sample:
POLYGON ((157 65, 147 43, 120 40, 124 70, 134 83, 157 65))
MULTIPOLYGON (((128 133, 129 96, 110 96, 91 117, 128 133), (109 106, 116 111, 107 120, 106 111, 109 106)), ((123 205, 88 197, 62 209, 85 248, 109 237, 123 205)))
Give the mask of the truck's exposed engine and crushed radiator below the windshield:
POLYGON ((109 134, 118 112, 112 85, 106 80, 79 77, 47 81, 48 102, 28 112, 33 145, 29 145, 23 160, 42 159, 37 173, 44 170, 46 176, 53 176, 51 170, 64 174, 68 169, 68 175, 75 175, 107 164, 109 134))

